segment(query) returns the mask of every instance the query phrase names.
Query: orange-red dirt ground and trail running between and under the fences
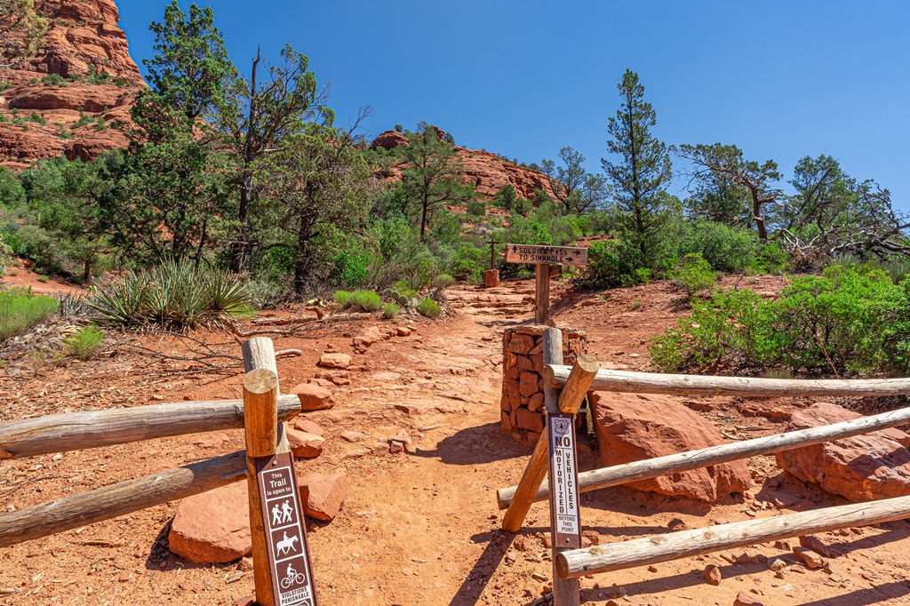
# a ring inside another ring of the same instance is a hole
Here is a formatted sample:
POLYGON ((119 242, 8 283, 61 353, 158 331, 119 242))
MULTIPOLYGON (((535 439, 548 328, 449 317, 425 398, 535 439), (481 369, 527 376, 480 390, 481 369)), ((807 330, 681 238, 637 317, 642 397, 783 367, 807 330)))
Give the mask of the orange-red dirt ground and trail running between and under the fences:
MULTIPOLYGON (((355 355, 352 382, 339 389, 334 409, 308 413, 326 429, 327 448, 301 472, 343 470, 349 493, 339 516, 311 524, 311 550, 320 603, 402 606, 521 604, 547 591, 551 562, 544 547, 545 504, 532 507, 528 528, 516 537, 500 530, 494 490, 514 484, 529 450, 499 429, 501 330, 531 318, 528 282, 492 291, 464 289, 452 298, 458 318, 415 324, 406 338, 380 341, 355 355), (384 439, 407 434, 406 453, 389 454, 384 439)), ((561 325, 586 328, 600 359, 647 368, 642 343, 681 313, 679 296, 665 285, 620 289, 602 298, 566 298, 561 325), (585 301, 591 301, 585 303, 585 301), (637 302, 636 302, 637 301, 637 302)), ((304 355, 278 361, 282 386, 312 377, 327 350, 350 351, 350 337, 364 322, 311 336, 280 338, 276 348, 304 355)), ((366 322, 380 324, 379 320, 366 322)), ((98 360, 44 369, 39 376, 0 379, 0 419, 21 419, 48 410, 35 402, 47 395, 52 409, 103 408, 165 401, 238 397, 239 375, 204 385, 201 377, 135 379, 143 359, 98 360), (44 396, 42 396, 44 392, 44 396)), ((149 377, 154 375, 148 374, 149 377)), ((733 399, 703 399, 706 416, 725 431, 753 437, 780 430, 755 412, 792 406, 733 399)), ((243 445, 242 433, 220 432, 160 439, 110 449, 86 450, 36 460, 0 462, 0 505, 22 508, 120 480, 205 459, 243 445), (38 481, 39 480, 39 481, 38 481)), ((596 443, 581 439, 581 469, 601 463, 596 443)), ((718 521, 775 515, 774 498, 787 510, 843 502, 789 480, 770 458, 754 460, 756 486, 746 499, 714 506, 673 500, 624 488, 583 495, 581 517, 597 540, 612 542, 668 531, 673 520, 692 528, 718 521)), ((252 592, 251 574, 235 580, 236 564, 195 566, 167 551, 167 529, 176 503, 144 510, 86 529, 0 550, 0 604, 234 604, 252 592)), ((739 591, 753 591, 764 604, 848 606, 904 603, 910 596, 910 549, 905 522, 880 529, 821 536, 834 550, 833 570, 805 571, 794 565, 775 577, 766 560, 784 550, 765 545, 660 564, 582 580, 582 601, 605 604, 733 604, 739 591), (704 581, 716 564, 720 586, 704 581)))

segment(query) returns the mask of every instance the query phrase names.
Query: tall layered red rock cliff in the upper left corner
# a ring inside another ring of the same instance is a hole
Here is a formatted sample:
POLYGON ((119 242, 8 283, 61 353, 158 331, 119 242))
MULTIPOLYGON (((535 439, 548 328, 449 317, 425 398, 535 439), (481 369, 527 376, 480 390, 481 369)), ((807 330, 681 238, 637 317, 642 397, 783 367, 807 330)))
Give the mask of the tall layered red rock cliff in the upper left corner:
POLYGON ((0 164, 28 167, 46 157, 94 159, 126 136, 111 128, 129 118, 146 86, 117 26, 114 0, 35 3, 48 22, 45 44, 0 68, 0 164))

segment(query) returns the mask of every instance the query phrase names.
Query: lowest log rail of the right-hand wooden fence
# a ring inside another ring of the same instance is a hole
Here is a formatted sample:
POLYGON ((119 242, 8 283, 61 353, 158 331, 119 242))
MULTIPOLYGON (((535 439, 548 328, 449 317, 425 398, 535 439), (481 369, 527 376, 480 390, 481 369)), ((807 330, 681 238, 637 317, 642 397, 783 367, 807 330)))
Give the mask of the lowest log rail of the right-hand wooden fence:
POLYGON ((897 497, 564 551, 556 557, 555 567, 563 579, 577 579, 585 574, 619 571, 769 540, 906 518, 910 518, 910 497, 897 497))

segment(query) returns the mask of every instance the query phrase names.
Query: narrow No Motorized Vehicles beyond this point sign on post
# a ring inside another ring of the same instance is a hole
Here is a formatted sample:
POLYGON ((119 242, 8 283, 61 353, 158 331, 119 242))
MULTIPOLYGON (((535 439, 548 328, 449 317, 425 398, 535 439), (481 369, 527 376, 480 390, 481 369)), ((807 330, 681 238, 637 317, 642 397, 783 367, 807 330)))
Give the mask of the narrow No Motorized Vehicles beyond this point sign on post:
POLYGON ((575 415, 548 414, 550 439, 550 520, 553 547, 581 548, 578 512, 578 465, 575 455, 575 415))

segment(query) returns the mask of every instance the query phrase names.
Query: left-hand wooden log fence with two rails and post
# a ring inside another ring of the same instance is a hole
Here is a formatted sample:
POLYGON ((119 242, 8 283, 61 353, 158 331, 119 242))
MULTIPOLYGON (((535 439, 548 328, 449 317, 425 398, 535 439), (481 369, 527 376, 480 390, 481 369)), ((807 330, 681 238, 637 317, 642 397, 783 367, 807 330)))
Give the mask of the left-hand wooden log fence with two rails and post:
MULTIPOLYGON (((253 574, 256 601, 260 606, 278 603, 279 579, 269 565, 266 536, 268 520, 263 520, 257 481, 262 461, 285 455, 289 458, 286 422, 300 412, 297 396, 278 394, 278 367, 275 349, 269 338, 251 338, 243 344, 246 375, 244 398, 236 400, 179 402, 129 409, 96 410, 49 415, 0 424, 0 460, 94 449, 146 439, 169 438, 193 433, 245 429, 246 450, 214 459, 162 471, 145 478, 127 480, 62 499, 52 500, 21 510, 0 513, 0 548, 27 540, 74 530, 88 524, 111 520, 138 510, 145 510, 172 500, 248 481, 250 530, 253 540, 253 574)), ((274 464, 274 463, 273 463, 274 464)), ((291 464, 290 467, 293 470, 291 464)), ((296 479, 290 483, 296 490, 296 479)), ((297 499, 289 490, 285 498, 297 499)), ((282 501, 283 503, 283 501, 282 501)), ((299 509, 299 503, 296 503, 299 509)), ((291 515, 288 513, 288 519, 291 515)), ((302 514, 294 517, 295 527, 305 547, 306 527, 302 514)), ((298 566, 292 589, 308 594, 309 601, 283 603, 315 604, 312 574, 307 566, 298 566), (303 577, 307 576, 306 579, 303 577), (300 587, 306 586, 304 589, 300 587), (307 589, 308 588, 308 589, 307 589)), ((294 562, 297 563, 296 561, 294 562)), ((287 580, 285 580, 287 581, 287 580)))

